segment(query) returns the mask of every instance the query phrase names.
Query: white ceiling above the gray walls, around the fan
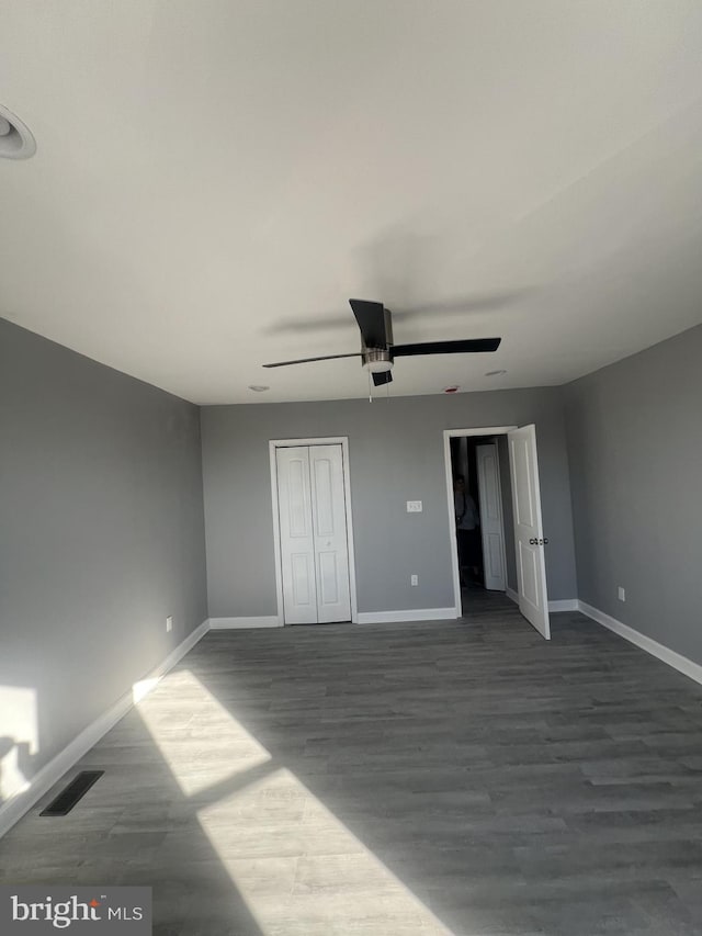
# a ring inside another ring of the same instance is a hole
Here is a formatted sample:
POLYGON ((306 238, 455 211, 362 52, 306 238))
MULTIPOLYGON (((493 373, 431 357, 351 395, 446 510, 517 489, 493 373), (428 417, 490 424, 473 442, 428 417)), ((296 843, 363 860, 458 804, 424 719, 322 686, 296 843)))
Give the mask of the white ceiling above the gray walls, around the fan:
POLYGON ((0 160, 0 315, 188 399, 364 396, 358 359, 261 368, 358 350, 349 297, 398 343, 502 336, 399 360, 397 395, 559 384, 702 322, 699 0, 0 0, 0 24, 38 146, 0 160))

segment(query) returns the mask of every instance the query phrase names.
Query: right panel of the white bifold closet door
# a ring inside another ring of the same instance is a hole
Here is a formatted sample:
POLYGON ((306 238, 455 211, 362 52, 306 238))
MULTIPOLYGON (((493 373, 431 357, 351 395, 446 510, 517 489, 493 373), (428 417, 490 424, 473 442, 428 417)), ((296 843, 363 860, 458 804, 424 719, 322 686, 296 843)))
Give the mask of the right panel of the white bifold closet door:
POLYGON ((341 446, 309 448, 317 620, 351 620, 349 545, 341 446))

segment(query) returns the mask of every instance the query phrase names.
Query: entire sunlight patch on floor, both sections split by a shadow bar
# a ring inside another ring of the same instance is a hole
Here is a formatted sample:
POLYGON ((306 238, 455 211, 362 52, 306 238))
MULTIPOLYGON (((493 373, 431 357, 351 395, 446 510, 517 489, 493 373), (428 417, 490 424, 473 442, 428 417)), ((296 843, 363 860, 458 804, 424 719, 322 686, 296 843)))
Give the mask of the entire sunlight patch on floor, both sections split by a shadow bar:
POLYGON ((450 936, 192 673, 165 683, 138 710, 264 936, 450 936))

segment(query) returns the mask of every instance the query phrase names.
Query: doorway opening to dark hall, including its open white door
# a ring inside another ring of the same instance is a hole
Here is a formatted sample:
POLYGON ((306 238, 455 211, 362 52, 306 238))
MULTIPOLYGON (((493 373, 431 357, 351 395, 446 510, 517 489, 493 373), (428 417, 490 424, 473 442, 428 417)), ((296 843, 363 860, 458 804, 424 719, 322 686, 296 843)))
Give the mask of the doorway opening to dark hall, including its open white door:
POLYGON ((535 427, 446 429, 444 459, 456 617, 507 596, 548 640, 535 427))

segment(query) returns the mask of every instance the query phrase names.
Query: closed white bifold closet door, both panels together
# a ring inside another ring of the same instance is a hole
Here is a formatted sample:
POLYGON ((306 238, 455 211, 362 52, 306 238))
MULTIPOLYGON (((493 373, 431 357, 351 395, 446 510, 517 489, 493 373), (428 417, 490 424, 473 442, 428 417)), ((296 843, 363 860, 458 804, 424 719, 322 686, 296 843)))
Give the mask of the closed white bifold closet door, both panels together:
POLYGON ((275 449, 286 624, 351 620, 342 459, 339 444, 275 449))

